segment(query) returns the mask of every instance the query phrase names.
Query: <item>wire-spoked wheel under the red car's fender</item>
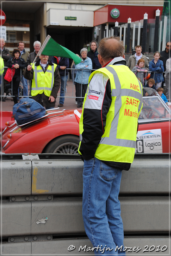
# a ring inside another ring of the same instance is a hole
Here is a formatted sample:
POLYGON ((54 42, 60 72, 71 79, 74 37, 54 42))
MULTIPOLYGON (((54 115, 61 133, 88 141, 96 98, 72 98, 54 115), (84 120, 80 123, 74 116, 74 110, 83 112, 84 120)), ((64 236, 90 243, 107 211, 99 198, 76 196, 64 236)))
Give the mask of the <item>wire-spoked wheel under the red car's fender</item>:
POLYGON ((46 147, 44 153, 79 154, 79 142, 79 137, 74 135, 66 135, 55 138, 46 147))

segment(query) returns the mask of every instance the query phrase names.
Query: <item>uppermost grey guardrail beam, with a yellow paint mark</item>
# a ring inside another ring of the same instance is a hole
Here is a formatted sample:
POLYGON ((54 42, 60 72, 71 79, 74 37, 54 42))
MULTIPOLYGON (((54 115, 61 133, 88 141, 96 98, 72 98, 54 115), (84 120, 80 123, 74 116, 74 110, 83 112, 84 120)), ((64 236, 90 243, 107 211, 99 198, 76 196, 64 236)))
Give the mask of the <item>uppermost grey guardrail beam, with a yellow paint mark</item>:
MULTIPOLYGON (((168 168, 169 163, 166 159, 135 159, 130 171, 122 172, 120 194, 168 193, 168 168), (149 172, 149 166, 155 169, 153 183, 151 179, 154 172, 149 172), (128 179, 131 180, 132 186, 128 179)), ((82 160, 3 160, 3 196, 81 195, 83 183, 80 170, 83 170, 82 160), (16 168, 17 175, 13 172, 16 168), (61 179, 64 177, 61 185, 61 179), (55 183, 53 180, 56 180, 55 183)))

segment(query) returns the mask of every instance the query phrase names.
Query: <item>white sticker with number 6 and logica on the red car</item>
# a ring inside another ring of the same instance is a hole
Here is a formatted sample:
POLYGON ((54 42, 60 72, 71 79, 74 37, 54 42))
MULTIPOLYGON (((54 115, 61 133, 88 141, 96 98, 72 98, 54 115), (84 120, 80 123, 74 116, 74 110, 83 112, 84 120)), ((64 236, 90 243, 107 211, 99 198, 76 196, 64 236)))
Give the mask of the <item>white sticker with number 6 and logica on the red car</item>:
POLYGON ((135 153, 162 153, 161 129, 138 131, 135 153))

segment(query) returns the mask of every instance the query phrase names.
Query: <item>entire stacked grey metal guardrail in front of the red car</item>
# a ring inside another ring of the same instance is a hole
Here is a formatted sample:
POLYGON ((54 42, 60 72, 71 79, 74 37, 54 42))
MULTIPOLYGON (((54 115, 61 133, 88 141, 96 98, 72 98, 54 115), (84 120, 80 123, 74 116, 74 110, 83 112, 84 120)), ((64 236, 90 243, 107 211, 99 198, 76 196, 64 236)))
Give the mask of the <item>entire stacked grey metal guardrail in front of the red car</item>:
MULTIPOLYGON (((93 255, 82 219, 79 156, 2 157, 3 254, 93 255)), ((136 154, 130 170, 122 171, 126 254, 170 255, 169 192, 168 154, 136 154)))

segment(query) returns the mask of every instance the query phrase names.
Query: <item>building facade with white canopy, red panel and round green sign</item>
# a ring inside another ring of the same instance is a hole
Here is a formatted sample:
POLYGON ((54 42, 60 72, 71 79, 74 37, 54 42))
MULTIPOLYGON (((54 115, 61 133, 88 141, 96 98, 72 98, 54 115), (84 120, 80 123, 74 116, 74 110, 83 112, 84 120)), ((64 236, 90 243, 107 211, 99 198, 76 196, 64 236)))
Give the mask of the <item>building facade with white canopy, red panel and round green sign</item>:
MULTIPOLYGON (((110 2, 110 1, 109 1, 110 2)), ((130 49, 138 43, 142 43, 143 15, 148 14, 147 51, 154 45, 155 11, 162 13, 163 1, 154 3, 149 1, 135 2, 127 1, 120 4, 119 1, 108 3, 108 1, 14 1, 1 2, 1 9, 6 14, 8 40, 6 47, 16 47, 17 41, 24 41, 26 49, 32 52, 33 42, 38 40, 43 43, 47 35, 72 52, 80 53, 80 49, 87 47, 92 40, 98 42, 104 36, 113 35, 116 22, 118 22, 118 33, 121 39, 127 42, 127 23, 131 18, 130 49), (110 15, 113 9, 119 10, 117 16, 110 15), (138 29, 137 26, 141 24, 138 29), (133 24, 135 24, 135 40, 133 38, 133 24), (23 30, 22 30, 23 29, 23 30), (22 40, 20 40, 22 39, 22 40), (13 45, 12 45, 13 43, 13 45), (29 45, 30 43, 30 45, 29 45)), ((126 43, 125 43, 126 47, 126 43)), ((29 51, 28 50, 28 51, 29 51)))

